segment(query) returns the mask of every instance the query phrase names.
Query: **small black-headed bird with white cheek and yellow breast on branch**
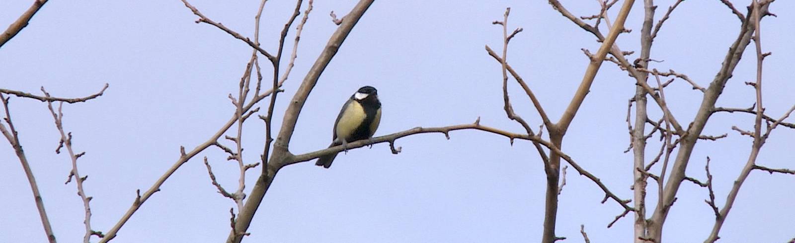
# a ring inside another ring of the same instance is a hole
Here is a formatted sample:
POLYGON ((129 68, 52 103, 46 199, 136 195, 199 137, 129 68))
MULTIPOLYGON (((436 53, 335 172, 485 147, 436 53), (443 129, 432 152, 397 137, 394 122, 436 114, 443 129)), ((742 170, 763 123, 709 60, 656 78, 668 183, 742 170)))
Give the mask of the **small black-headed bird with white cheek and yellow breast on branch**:
MULTIPOLYGON (((332 145, 343 145, 347 152, 347 143, 363 139, 372 139, 378 124, 381 123, 381 102, 378 101, 378 91, 374 87, 359 88, 339 110, 337 120, 334 122, 332 145)), ((320 156, 315 165, 329 168, 339 152, 320 156)))

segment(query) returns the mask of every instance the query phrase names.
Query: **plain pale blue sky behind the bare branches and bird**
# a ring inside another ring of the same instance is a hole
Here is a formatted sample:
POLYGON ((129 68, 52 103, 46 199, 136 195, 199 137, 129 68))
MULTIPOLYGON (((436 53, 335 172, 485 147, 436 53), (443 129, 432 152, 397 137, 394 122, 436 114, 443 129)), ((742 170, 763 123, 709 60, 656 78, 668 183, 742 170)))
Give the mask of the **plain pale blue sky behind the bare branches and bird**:
MULTIPOLYGON (((0 26, 6 28, 32 1, 0 1, 0 26)), ((254 36, 256 0, 191 1, 207 17, 246 37, 254 36)), ((732 1, 743 13, 750 1, 732 1)), ((599 12, 595 1, 563 1, 576 16, 599 12)), ((658 1, 657 18, 673 1, 658 1)), ((285 93, 278 96, 274 128, 285 104, 334 32, 328 13, 342 16, 355 1, 316 1, 304 26, 298 59, 285 93)), ((615 19, 615 10, 611 17, 615 19)), ((624 51, 638 51, 642 1, 626 21, 632 33, 619 36, 624 51)), ((275 52, 278 33, 293 10, 293 1, 269 1, 262 17, 262 47, 275 52)), ((510 44, 509 63, 528 82, 553 120, 569 99, 588 65, 580 48, 595 52, 599 43, 545 1, 378 1, 355 26, 315 89, 296 126, 290 150, 326 148, 332 123, 343 102, 364 85, 378 88, 383 117, 376 136, 415 126, 475 122, 521 132, 502 110, 500 65, 483 46, 502 50, 502 29, 492 25, 511 7, 509 28, 524 28, 510 44)), ((306 2, 302 10, 306 8, 306 2)), ((795 103, 792 56, 795 56, 795 4, 775 2, 778 17, 762 21, 762 48, 773 52, 765 61, 764 104, 778 118, 795 103)), ((64 128, 71 131, 80 158, 80 173, 93 196, 92 226, 107 231, 135 198, 147 190, 179 157, 211 137, 234 112, 227 95, 238 82, 251 50, 240 40, 198 17, 180 1, 51 1, 0 48, 0 87, 41 95, 46 87, 59 97, 83 97, 110 88, 100 98, 64 105, 64 128)), ((603 31, 607 28, 603 27, 603 31)), ((651 58, 665 60, 653 68, 689 75, 706 87, 739 31, 739 20, 719 1, 686 1, 665 23, 651 58)), ((292 40, 291 29, 288 40, 292 40)), ((292 41, 285 45, 285 52, 292 41)), ((747 108, 754 91, 753 44, 718 100, 719 106, 747 108)), ((285 58, 286 61, 286 58, 285 58)), ((263 59, 263 71, 270 66, 263 59)), ((267 80, 267 79, 266 79, 267 80)), ((513 80, 513 79, 512 79, 513 80)), ((521 87, 511 80, 514 110, 533 127, 541 124, 521 87)), ((688 124, 701 101, 683 80, 665 90, 676 118, 688 124)), ((626 102, 634 79, 605 63, 564 140, 563 150, 602 179, 619 197, 630 199, 632 156, 623 153, 629 136, 626 102)), ((260 103, 265 106, 266 102, 260 103)), ((36 175, 56 237, 79 242, 83 205, 74 183, 64 185, 71 168, 67 154, 55 154, 60 138, 46 103, 11 98, 10 109, 21 144, 36 175)), ((650 104, 650 116, 660 118, 650 104)), ((789 122, 793 119, 790 118, 789 122)), ((704 163, 712 158, 716 201, 723 206, 732 181, 747 160, 751 140, 731 125, 753 128, 753 115, 715 114, 704 130, 728 133, 720 141, 699 141, 688 175, 705 180, 704 163)), ((230 132, 236 131, 234 128, 230 132)), ((230 133, 231 134, 231 133, 230 133)), ((258 119, 246 122, 244 159, 258 159, 265 141, 258 119)), ((227 141, 223 143, 230 145, 227 141)), ((758 164, 795 168, 793 129, 776 129, 762 148, 758 164)), ((0 145, 0 241, 43 242, 45 233, 33 196, 14 150, 0 145)), ((273 181, 246 241, 260 242, 484 242, 538 241, 544 214, 545 174, 535 148, 527 141, 510 145, 504 138, 478 131, 420 134, 400 139, 398 155, 388 144, 351 150, 331 169, 313 162, 281 169, 273 181)), ((659 148, 650 139, 651 159, 659 148)), ((160 192, 118 232, 114 242, 219 242, 229 232, 230 199, 215 193, 202 157, 213 165, 219 183, 234 191, 237 165, 216 148, 184 164, 160 192)), ((674 155, 675 156, 675 155, 674 155)), ((657 168, 658 172, 659 168, 657 168)), ((246 191, 258 169, 247 174, 246 191)), ((751 172, 720 233, 720 242, 784 242, 795 237, 795 176, 751 172)), ((648 202, 657 201, 650 180, 648 202)), ((706 189, 683 183, 665 222, 668 242, 704 241, 714 214, 704 203, 706 189)), ((600 204, 595 183, 568 169, 560 195, 556 233, 565 242, 581 242, 584 224, 592 242, 629 242, 633 216, 611 229, 607 224, 622 208, 600 204)), ((650 204, 652 207, 653 204, 650 204)), ((235 209, 237 211, 237 209, 235 209)), ((97 241, 96 237, 92 238, 97 241)))

